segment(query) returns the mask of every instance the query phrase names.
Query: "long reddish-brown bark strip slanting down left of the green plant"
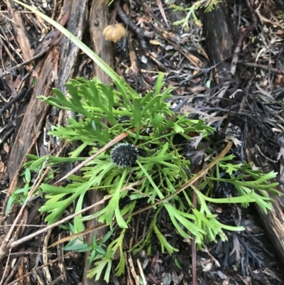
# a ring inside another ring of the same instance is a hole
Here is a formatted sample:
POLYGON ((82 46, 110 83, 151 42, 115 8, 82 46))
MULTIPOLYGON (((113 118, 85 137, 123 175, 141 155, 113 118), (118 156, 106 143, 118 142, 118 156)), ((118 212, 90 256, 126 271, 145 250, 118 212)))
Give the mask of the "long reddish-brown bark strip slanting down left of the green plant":
MULTIPOLYGON (((65 14, 66 5, 62 7, 62 12, 58 18, 59 23, 63 26, 67 21, 65 14)), ((53 86, 55 81, 53 71, 58 65, 60 55, 60 46, 58 45, 58 42, 56 42, 59 35, 59 32, 55 34, 45 58, 40 60, 34 68, 34 73, 38 75, 38 80, 33 88, 33 94, 31 95, 31 100, 25 115, 23 119, 21 119, 21 126, 16 135, 8 162, 7 173, 9 174, 10 183, 12 183, 13 186, 16 186, 15 180, 22 168, 23 160, 25 159, 26 154, 28 154, 28 151, 31 150, 31 144, 34 144, 35 138, 41 131, 43 120, 45 119, 45 114, 48 110, 48 104, 38 100, 37 97, 39 95, 45 97, 53 95, 50 87, 53 86)), ((30 85, 33 84, 33 80, 34 78, 31 78, 30 85)), ((13 193, 14 188, 15 187, 11 188, 10 185, 9 194, 13 193)))

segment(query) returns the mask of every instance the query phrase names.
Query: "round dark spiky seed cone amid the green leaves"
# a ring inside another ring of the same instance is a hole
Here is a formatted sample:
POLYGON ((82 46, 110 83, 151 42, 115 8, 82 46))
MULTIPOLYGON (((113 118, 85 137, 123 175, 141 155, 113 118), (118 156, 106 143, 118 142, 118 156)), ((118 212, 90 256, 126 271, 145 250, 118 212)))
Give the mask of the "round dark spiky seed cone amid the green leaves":
POLYGON ((116 166, 131 167, 138 158, 138 149, 133 144, 121 143, 111 151, 111 161, 116 166))

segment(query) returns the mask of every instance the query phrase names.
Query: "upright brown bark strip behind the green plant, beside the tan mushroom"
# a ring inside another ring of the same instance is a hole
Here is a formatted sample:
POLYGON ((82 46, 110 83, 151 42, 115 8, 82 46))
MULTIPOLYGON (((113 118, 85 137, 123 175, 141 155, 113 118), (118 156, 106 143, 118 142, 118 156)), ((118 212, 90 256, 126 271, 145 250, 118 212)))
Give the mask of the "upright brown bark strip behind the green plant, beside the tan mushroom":
MULTIPOLYGON (((112 43, 106 41, 102 32, 104 28, 109 25, 109 1, 107 0, 93 0, 92 6, 89 14, 89 31, 92 40, 92 48, 97 55, 99 55, 102 60, 104 60, 110 66, 113 65, 113 53, 112 53, 112 43)), ((94 66, 94 75, 99 78, 104 84, 111 84, 111 78, 101 69, 99 66, 94 66)), ((89 205, 97 203, 99 200, 102 200, 105 193, 99 190, 91 190, 87 193, 87 198, 89 200, 89 205)), ((100 205, 96 208, 93 208, 89 211, 89 215, 97 213, 103 208, 103 205, 100 205)), ((94 227, 98 224, 97 219, 90 220, 87 223, 87 227, 94 227)), ((97 230, 95 235, 97 239, 104 237, 107 234, 108 228, 104 227, 101 230, 97 230)), ((92 243, 94 237, 94 232, 87 235, 87 241, 92 243)), ((103 280, 104 274, 102 274, 99 281, 94 281, 94 279, 87 278, 87 271, 92 269, 93 264, 89 267, 89 252, 85 254, 84 259, 84 274, 82 285, 104 285, 106 282, 103 280)))

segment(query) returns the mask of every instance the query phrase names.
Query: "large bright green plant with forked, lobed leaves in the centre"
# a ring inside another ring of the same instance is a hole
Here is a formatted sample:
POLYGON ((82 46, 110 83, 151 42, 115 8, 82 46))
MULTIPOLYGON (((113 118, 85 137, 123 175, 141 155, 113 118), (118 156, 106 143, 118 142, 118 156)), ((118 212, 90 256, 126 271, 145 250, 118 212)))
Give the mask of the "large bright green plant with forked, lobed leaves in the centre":
MULTIPOLYGON (((148 253, 151 253, 152 235, 160 241, 162 252, 173 254, 178 250, 159 230, 157 217, 161 210, 166 211, 175 230, 182 237, 190 238, 194 235, 195 241, 199 247, 202 247, 206 242, 215 241, 217 236, 226 240, 223 230, 244 230, 243 227, 232 227, 219 222, 217 215, 210 212, 209 203, 241 203, 246 207, 249 203, 255 202, 265 212, 271 209, 271 198, 265 191, 276 193, 273 187, 277 183, 267 183, 275 177, 275 173, 263 174, 259 170, 253 170, 249 164, 234 163, 233 155, 224 156, 217 161, 201 179, 198 189, 190 185, 190 188, 182 191, 180 195, 174 195, 176 190, 195 176, 188 171, 190 160, 185 158, 182 144, 175 143, 176 137, 181 136, 187 141, 195 142, 195 146, 198 147, 196 137, 192 137, 192 134, 198 134, 205 141, 209 141, 209 134, 213 134, 214 129, 204 124, 202 120, 187 119, 185 116, 173 113, 165 102, 170 98, 170 88, 163 90, 163 84, 163 76, 159 75, 155 91, 139 97, 131 90, 127 90, 121 82, 115 82, 114 85, 107 87, 97 78, 93 80, 77 78, 67 83, 67 97, 56 89, 54 90, 56 97, 40 97, 55 107, 72 110, 79 115, 78 120, 69 119, 70 124, 67 127, 54 126, 53 131, 50 131, 50 135, 58 136, 60 139, 82 142, 69 158, 54 156, 48 158, 46 166, 53 166, 54 171, 58 163, 82 160, 84 158, 80 158, 79 155, 84 149, 91 147, 91 154, 96 153, 125 131, 128 136, 122 144, 136 146, 140 154, 131 167, 120 167, 113 163, 111 151, 107 150, 82 168, 82 176, 70 176, 70 183, 67 186, 55 187, 45 183, 40 186, 47 199, 40 211, 48 213, 45 219, 48 224, 58 220, 71 203, 76 205, 75 212, 82 210, 84 195, 89 190, 105 190, 106 195, 112 195, 104 209, 93 217, 87 217, 107 222, 111 228, 116 223, 121 228, 119 237, 116 237, 104 251, 98 250, 97 254, 91 256, 90 260, 94 260, 95 264, 94 269, 89 272, 90 277, 95 276, 99 279, 102 269, 107 268, 104 279, 109 281, 111 261, 117 250, 120 252, 120 261, 116 267, 116 274, 124 272, 122 242, 131 215, 137 210, 137 203, 141 199, 146 200, 148 205, 155 203, 153 207, 155 214, 146 236, 133 247, 134 253, 144 247, 147 247, 148 253), (220 169, 228 173, 229 178, 220 178, 220 169), (122 188, 136 181, 141 181, 136 189, 121 192, 122 188), (234 184, 239 196, 212 198, 214 181, 234 184), (197 208, 192 205, 193 192, 197 194, 197 208), (173 197, 157 204, 159 200, 164 200, 170 195, 173 197), (124 201, 123 208, 121 201, 124 201)), ((213 160, 210 147, 206 147, 201 155, 208 162, 213 160)), ((125 154, 122 157, 124 156, 125 154)), ((33 166, 38 168, 39 164, 47 159, 28 157, 31 161, 26 163, 26 167, 32 170, 33 166)), ((75 217, 72 231, 82 232, 84 220, 86 218, 82 215, 75 217)), ((77 247, 91 249, 90 245, 77 245, 77 247)), ((92 250, 95 250, 95 247, 97 245, 93 244, 92 250)))

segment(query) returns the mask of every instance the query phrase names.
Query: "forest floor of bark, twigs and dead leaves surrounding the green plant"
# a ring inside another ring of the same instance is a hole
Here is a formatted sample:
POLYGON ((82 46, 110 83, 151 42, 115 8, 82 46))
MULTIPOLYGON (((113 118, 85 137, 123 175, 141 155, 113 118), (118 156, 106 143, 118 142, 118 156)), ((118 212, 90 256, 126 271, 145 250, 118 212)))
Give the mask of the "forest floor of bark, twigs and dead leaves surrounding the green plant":
MULTIPOLYGON (((247 1, 239 4, 228 2, 227 6, 215 11, 219 13, 219 26, 224 28, 221 31, 216 28, 217 36, 213 38, 210 35, 214 29, 213 23, 217 21, 214 16, 213 21, 200 12, 198 16, 204 25, 190 18, 187 31, 173 26, 173 22, 185 17, 185 12, 173 12, 163 4, 163 17, 157 3, 159 1, 148 1, 144 9, 136 1, 119 4, 123 8, 116 3, 111 6, 111 15, 117 13, 117 21, 128 26, 130 35, 114 49, 116 72, 142 94, 153 90, 158 72, 164 72, 166 84, 174 87, 170 103, 176 112, 190 112, 192 117, 201 117, 216 127, 219 133, 227 121, 239 126, 241 141, 246 144, 234 149, 235 154, 241 160, 253 157, 253 163, 260 164, 257 166, 273 167, 280 173, 281 182, 284 131, 283 3, 261 1, 249 6, 247 1), (131 16, 128 11, 131 11, 131 16), (227 17, 226 21, 221 18, 222 15, 227 17), (224 23, 228 25, 226 28, 224 23), (242 39, 241 31, 244 33, 242 39), (236 65, 234 55, 238 47, 241 53, 237 54, 239 63, 236 65)), ((18 174, 21 173, 26 154, 35 152, 43 156, 50 151, 67 154, 72 150, 65 149, 65 146, 58 147, 56 141, 46 135, 50 124, 65 124, 66 117, 72 114, 48 109, 35 97, 40 94, 51 96, 50 87, 64 91, 67 79, 75 76, 91 78, 97 75, 106 83, 108 79, 96 70, 86 55, 80 54, 53 28, 45 26, 40 18, 15 12, 18 8, 13 6, 12 1, 0 1, 0 4, 0 198, 5 205, 16 185, 23 187, 18 174), (38 58, 33 58, 35 55, 38 58), (32 61, 24 63, 32 58, 32 61), (16 65, 19 66, 11 70, 16 65), (8 74, 4 74, 6 70, 9 70, 8 74)), ((108 53, 105 48, 111 47, 111 43, 104 42, 102 37, 106 24, 102 25, 102 21, 97 23, 98 14, 107 18, 106 4, 102 4, 102 1, 97 1, 96 5, 88 1, 54 1, 48 2, 47 6, 45 4, 44 1, 38 3, 38 9, 62 25, 67 23, 72 33, 112 64, 110 55, 113 50, 110 48, 108 53), (104 48, 98 42, 102 42, 104 48)), ((32 179, 35 180, 35 177, 32 179)), ((223 191, 220 195, 226 193, 223 191)), ((23 226, 16 227, 10 233, 10 225, 21 206, 14 205, 9 216, 6 216, 2 205, 2 245, 26 237, 45 225, 44 215, 38 214, 38 208, 43 203, 41 197, 30 201, 18 220, 18 224, 23 226)), ((228 233, 229 242, 226 244, 218 241, 217 244, 208 244, 207 250, 197 252, 199 284, 284 284, 283 264, 273 247, 277 241, 268 238, 271 232, 264 230, 263 217, 258 215, 256 208, 214 207, 212 205, 212 213, 218 213, 221 221, 233 225, 239 222, 246 226, 246 232, 235 235, 228 233)), ((133 227, 125 241, 128 259, 126 274, 119 278, 113 276, 111 282, 116 285, 138 284, 138 276, 141 276, 148 284, 191 284, 191 244, 178 237, 167 217, 160 221, 160 230, 171 238, 173 246, 180 250, 178 254, 161 254, 158 242, 149 256, 146 252, 135 256, 127 252, 133 240, 137 242, 145 235, 149 218, 151 211, 133 219, 133 227)), ((66 254, 62 244, 46 249, 48 244, 65 235, 66 232, 55 228, 49 234, 36 235, 8 249, 1 260, 0 284, 14 284, 19 278, 23 284, 88 284, 82 254, 71 253, 62 259, 66 254)))

